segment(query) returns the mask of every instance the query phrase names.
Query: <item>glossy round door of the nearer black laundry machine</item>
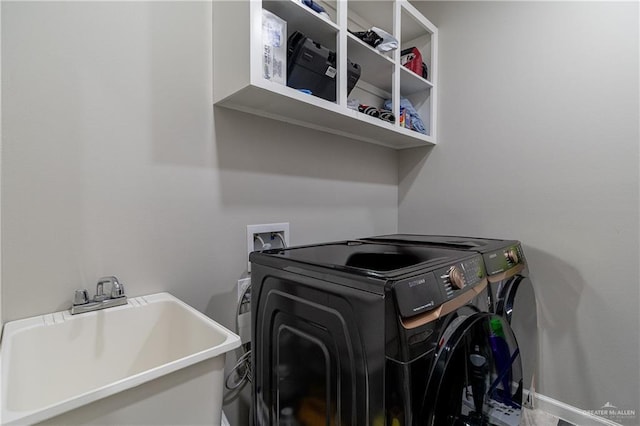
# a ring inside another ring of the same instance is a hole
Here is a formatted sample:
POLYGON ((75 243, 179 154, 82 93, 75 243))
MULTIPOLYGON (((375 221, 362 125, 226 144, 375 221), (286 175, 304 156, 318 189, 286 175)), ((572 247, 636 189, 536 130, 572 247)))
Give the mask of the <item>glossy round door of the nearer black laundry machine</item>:
POLYGON ((520 424, 522 367, 511 327, 485 312, 450 315, 423 399, 424 424, 520 424))

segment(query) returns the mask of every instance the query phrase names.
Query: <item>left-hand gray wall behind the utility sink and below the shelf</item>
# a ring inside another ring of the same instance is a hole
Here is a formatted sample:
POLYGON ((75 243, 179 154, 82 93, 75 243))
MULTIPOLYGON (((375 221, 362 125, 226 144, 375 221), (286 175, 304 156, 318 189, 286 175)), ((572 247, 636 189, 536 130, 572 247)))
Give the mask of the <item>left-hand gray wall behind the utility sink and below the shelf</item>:
POLYGON ((214 114, 211 21, 208 2, 2 2, 5 321, 115 274, 232 326, 247 224, 396 231, 395 151, 214 114))

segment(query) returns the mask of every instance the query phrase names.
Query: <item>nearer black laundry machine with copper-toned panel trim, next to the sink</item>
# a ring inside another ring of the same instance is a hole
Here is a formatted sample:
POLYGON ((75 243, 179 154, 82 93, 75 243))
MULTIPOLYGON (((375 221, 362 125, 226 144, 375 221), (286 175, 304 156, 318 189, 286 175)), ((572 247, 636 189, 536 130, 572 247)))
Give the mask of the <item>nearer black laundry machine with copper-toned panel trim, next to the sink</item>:
POLYGON ((250 260, 255 425, 519 424, 520 351, 481 255, 342 241, 250 260))

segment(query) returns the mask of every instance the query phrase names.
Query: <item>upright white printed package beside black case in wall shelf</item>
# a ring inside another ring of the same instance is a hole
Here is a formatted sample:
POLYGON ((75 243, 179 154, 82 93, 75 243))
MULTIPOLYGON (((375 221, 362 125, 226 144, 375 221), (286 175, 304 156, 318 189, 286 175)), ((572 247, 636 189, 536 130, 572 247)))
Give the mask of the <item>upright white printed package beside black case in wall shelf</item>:
POLYGON ((262 76, 287 84, 287 22, 262 9, 262 76))

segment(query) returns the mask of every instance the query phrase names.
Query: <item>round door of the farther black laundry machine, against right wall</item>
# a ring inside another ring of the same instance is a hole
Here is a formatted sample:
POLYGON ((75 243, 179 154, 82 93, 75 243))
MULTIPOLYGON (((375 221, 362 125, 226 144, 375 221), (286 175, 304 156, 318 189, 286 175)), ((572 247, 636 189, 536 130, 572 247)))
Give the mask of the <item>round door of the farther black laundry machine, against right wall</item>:
POLYGON ((518 340, 523 386, 529 391, 525 398, 529 398, 528 404, 531 405, 538 365, 538 314, 533 284, 528 277, 516 275, 501 283, 497 296, 496 313, 509 322, 518 340))

